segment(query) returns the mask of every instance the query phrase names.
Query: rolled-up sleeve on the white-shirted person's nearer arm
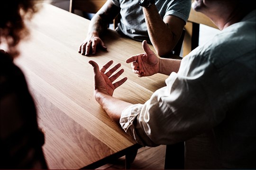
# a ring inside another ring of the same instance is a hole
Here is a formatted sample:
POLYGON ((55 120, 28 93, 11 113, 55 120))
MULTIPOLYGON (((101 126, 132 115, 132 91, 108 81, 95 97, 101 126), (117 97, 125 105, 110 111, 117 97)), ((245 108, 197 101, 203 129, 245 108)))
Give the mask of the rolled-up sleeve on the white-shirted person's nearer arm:
POLYGON ((186 56, 179 72, 171 73, 165 82, 145 104, 129 106, 121 114, 121 126, 137 143, 174 144, 224 119, 223 86, 207 58, 186 56))

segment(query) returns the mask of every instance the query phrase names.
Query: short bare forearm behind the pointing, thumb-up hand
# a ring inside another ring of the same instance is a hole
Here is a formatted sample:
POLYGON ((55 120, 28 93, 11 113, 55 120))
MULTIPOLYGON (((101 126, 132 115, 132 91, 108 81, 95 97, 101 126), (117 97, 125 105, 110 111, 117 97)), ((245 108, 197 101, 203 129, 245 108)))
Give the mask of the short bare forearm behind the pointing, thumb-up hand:
POLYGON ((158 73, 170 75, 172 72, 178 72, 181 65, 181 59, 159 59, 158 73))

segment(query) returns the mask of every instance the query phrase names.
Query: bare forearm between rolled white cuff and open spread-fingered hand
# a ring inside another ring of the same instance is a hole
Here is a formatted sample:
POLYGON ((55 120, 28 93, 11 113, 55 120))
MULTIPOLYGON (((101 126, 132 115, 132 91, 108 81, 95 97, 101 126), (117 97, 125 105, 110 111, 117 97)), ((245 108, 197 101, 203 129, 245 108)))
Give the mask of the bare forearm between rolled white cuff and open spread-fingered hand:
POLYGON ((104 93, 96 93, 95 99, 118 125, 122 111, 132 105, 104 93))

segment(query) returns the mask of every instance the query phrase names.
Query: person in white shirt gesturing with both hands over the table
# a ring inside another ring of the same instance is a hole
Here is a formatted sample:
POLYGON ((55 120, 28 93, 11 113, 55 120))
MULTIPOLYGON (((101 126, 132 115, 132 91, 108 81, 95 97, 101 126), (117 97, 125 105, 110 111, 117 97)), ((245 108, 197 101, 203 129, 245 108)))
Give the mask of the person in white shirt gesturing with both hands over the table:
POLYGON ((192 8, 221 30, 210 42, 175 60, 157 57, 144 41, 145 53, 127 59, 139 77, 170 75, 165 87, 144 104, 121 101, 112 94, 127 77, 112 82, 123 70, 111 77, 113 61, 100 70, 91 60, 95 99, 138 144, 174 144, 213 129, 221 169, 256 169, 255 5, 195 0, 192 8))

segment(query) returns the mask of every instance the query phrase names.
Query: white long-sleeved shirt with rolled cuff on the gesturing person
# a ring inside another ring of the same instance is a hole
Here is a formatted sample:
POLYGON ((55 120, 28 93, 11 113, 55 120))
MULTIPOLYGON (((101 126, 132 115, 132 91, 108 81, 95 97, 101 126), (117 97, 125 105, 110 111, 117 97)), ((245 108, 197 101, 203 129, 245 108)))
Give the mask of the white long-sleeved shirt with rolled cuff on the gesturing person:
POLYGON ((255 16, 254 10, 184 57, 165 87, 123 110, 123 129, 138 144, 155 146, 213 128, 223 167, 255 168, 255 16))

